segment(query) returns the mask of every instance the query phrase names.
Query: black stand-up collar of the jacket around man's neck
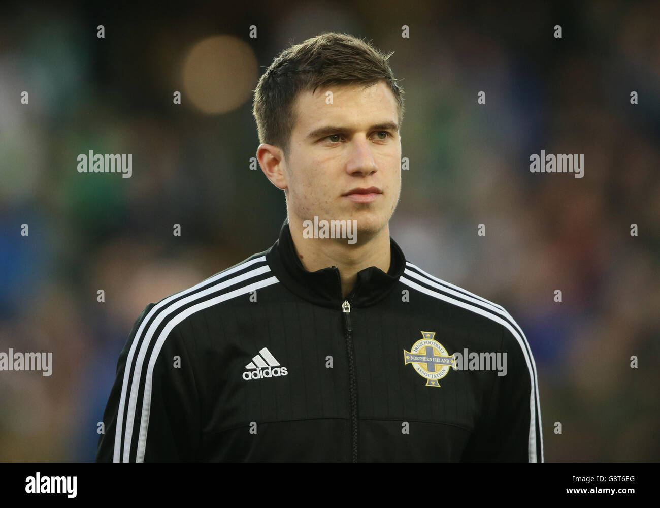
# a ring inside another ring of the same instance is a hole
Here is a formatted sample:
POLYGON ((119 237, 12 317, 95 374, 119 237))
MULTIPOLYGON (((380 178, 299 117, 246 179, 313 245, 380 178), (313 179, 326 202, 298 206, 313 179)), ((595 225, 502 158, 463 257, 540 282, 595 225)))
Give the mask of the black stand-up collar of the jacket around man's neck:
POLYGON ((405 270, 406 261, 401 248, 391 237, 389 244, 391 261, 388 272, 376 266, 361 270, 355 286, 346 298, 341 295, 341 279, 335 266, 316 272, 308 272, 302 266, 291 238, 288 220, 282 224, 278 240, 267 250, 266 260, 284 286, 315 305, 339 309, 343 301, 348 300, 354 307, 369 307, 389 293, 405 270))

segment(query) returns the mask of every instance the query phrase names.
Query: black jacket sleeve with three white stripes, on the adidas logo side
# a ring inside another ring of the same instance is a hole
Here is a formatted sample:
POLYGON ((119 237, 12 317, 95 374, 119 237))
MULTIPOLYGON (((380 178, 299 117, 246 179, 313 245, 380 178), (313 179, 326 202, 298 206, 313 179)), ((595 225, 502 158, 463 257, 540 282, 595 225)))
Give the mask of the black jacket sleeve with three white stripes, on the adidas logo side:
POLYGON ((119 354, 96 462, 196 460, 201 433, 194 345, 184 342, 176 312, 152 312, 154 306, 141 312, 119 354))

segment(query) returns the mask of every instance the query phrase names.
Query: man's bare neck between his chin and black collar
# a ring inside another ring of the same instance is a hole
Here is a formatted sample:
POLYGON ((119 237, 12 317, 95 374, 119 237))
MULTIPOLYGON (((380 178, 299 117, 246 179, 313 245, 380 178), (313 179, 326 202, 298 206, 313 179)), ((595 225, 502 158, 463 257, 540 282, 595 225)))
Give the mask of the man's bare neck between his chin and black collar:
POLYGON ((302 266, 308 272, 316 272, 336 266, 341 277, 342 297, 353 289, 358 272, 376 266, 389 271, 390 244, 389 224, 368 240, 349 244, 346 238, 304 238, 302 221, 289 218, 289 231, 302 266))

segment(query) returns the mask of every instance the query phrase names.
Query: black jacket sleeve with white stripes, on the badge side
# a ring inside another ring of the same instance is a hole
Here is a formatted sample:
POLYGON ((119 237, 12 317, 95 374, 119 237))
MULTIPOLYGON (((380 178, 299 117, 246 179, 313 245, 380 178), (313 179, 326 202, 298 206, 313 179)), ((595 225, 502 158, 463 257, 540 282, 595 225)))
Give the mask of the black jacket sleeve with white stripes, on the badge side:
MULTIPOLYGON (((513 322, 513 319, 510 319, 513 322)), ((515 324, 515 322, 513 322, 515 324)), ((502 326, 506 375, 493 372, 487 410, 467 446, 471 462, 543 462, 543 435, 536 367, 517 325, 502 326)))

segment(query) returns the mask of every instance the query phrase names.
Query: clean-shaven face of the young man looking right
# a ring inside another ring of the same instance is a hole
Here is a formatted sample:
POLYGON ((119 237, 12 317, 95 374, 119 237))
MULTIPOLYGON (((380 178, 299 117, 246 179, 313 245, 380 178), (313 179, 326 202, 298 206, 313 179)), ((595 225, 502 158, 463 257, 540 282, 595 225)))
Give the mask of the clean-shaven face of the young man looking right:
POLYGON ((287 207, 300 221, 357 221, 358 241, 376 235, 401 191, 397 101, 380 81, 302 92, 284 161, 287 207), (328 104, 326 92, 332 92, 328 104))

